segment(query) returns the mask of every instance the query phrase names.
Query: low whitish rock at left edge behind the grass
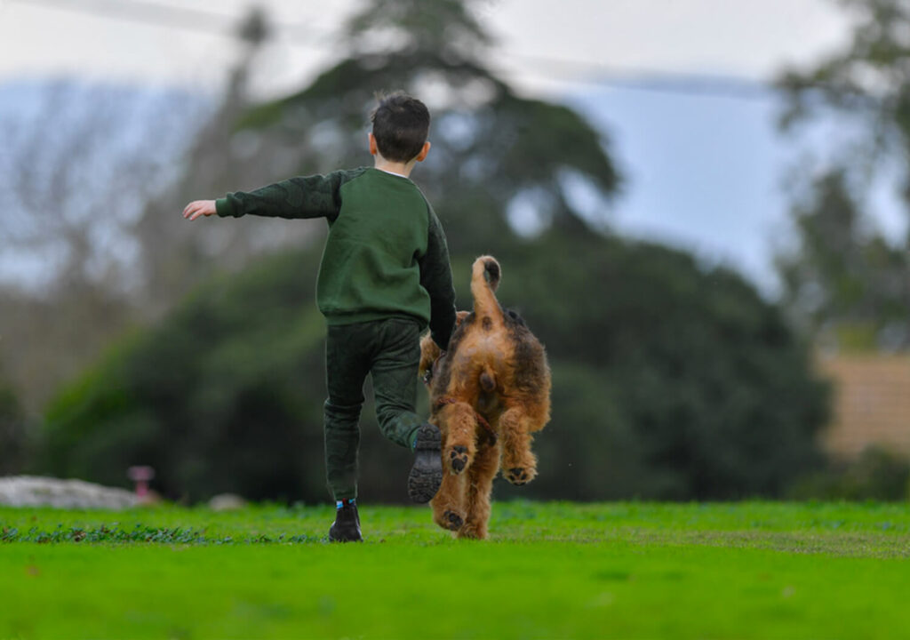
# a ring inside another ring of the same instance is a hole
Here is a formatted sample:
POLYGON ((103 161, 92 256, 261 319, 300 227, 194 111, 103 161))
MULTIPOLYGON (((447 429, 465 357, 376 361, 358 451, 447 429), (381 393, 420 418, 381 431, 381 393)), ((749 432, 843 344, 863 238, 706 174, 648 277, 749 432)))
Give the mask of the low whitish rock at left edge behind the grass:
POLYGON ((0 478, 0 504, 15 507, 51 506, 62 509, 127 509, 136 495, 125 489, 82 480, 60 480, 34 475, 0 478))

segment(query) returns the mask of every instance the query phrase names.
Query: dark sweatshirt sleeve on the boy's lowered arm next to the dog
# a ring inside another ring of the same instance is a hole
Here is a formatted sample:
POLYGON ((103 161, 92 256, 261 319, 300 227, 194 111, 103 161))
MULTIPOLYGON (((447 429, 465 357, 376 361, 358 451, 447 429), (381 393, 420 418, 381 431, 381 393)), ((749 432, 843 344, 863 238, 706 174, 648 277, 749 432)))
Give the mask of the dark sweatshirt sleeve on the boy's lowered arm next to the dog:
POLYGON ((420 259, 420 286, 430 293, 430 336, 441 350, 447 350, 455 328, 455 288, 446 236, 429 203, 427 208, 430 230, 427 252, 420 259))

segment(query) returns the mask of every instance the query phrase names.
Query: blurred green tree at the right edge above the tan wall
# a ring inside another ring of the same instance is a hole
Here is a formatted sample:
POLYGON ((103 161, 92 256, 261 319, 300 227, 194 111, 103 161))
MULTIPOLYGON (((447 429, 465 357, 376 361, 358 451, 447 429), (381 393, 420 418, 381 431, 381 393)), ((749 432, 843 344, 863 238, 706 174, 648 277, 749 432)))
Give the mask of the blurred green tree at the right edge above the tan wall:
POLYGON ((784 299, 828 348, 907 349, 910 236, 885 239, 861 203, 876 172, 898 166, 910 206, 910 5, 843 5, 857 18, 850 44, 779 81, 788 98, 784 130, 835 113, 863 131, 844 142, 823 176, 804 172, 809 193, 792 214, 798 246, 779 260, 784 299))

